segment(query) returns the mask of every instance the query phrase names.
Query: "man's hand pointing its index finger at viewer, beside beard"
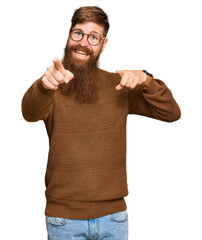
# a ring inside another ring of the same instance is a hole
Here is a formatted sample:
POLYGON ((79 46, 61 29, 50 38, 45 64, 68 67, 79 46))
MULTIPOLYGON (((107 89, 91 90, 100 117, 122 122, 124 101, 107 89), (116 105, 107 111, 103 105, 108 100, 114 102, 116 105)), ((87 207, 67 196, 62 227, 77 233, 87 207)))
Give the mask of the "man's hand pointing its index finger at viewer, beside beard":
POLYGON ((66 70, 58 58, 53 59, 53 65, 47 68, 42 77, 43 87, 57 90, 62 83, 68 83, 74 77, 73 73, 66 70))

